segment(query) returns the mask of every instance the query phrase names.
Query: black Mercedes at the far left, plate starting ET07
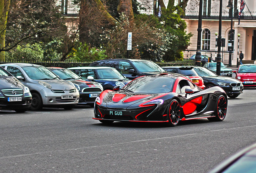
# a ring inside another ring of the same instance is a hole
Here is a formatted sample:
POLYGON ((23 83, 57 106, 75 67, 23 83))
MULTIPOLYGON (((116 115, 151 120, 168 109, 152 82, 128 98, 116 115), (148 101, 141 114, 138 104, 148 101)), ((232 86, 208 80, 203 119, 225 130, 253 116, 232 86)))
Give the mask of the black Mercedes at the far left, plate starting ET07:
POLYGON ((29 109, 31 100, 29 88, 0 67, 0 109, 22 113, 29 109))

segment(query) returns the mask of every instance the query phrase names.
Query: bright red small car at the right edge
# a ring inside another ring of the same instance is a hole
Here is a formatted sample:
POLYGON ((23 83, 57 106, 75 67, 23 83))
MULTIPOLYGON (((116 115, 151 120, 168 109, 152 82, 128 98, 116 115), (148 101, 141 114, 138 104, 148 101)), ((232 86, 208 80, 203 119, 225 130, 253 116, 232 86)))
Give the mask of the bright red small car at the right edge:
POLYGON ((244 87, 256 87, 256 64, 242 64, 234 73, 244 87))

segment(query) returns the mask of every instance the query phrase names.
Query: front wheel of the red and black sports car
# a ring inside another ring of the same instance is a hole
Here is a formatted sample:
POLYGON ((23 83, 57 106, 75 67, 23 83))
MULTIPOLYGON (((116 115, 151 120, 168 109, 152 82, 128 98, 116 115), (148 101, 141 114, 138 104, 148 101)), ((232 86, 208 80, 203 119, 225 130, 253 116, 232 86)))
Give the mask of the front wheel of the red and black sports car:
POLYGON ((176 100, 173 99, 168 107, 168 123, 167 125, 169 127, 174 127, 178 125, 180 121, 180 103, 176 100))

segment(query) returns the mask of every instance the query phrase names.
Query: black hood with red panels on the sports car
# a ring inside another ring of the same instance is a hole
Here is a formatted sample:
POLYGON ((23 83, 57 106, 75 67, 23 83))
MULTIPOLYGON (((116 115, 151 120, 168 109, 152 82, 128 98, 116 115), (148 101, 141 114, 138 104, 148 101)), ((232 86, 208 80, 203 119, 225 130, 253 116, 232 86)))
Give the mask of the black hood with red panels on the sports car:
MULTIPOLYGON (((132 109, 138 108, 138 105, 149 101, 160 95, 166 95, 163 93, 160 94, 140 94, 140 93, 126 93, 126 92, 115 92, 106 90, 103 91, 105 97, 102 99, 101 106, 108 109, 132 109)), ((142 106, 143 107, 143 106, 142 106)))

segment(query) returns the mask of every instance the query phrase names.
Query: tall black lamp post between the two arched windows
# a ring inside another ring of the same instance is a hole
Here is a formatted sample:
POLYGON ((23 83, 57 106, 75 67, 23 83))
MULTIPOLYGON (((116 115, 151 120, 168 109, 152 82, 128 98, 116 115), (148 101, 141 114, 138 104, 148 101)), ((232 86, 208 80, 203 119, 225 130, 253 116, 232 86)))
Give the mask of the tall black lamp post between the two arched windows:
POLYGON ((219 36, 218 36, 218 53, 216 57, 216 73, 221 75, 221 21, 222 21, 222 0, 219 2, 219 36))

